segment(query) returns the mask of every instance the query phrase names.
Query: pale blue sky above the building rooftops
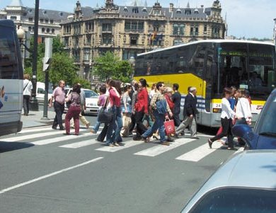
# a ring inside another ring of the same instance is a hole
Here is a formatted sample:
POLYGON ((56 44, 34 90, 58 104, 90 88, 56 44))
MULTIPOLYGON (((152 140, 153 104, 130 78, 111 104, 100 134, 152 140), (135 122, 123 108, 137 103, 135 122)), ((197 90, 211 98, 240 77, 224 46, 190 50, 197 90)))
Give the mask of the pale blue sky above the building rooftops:
MULTIPOLYGON (((79 0, 81 6, 104 6, 105 0, 79 0)), ((113 0, 119 6, 133 5, 135 0, 113 0)), ((153 6, 156 0, 137 0, 139 6, 153 6)), ((161 6, 169 7, 173 3, 175 7, 185 7, 190 3, 191 8, 212 6, 214 0, 158 0, 161 6)), ((23 6, 35 7, 35 0, 21 0, 23 6)), ((238 38, 273 38, 273 29, 276 18, 275 0, 220 0, 222 4, 222 16, 226 18, 228 26, 227 35, 238 38)), ((11 0, 0 0, 0 9, 11 4, 11 0)), ((74 12, 76 0, 40 0, 40 8, 57 11, 74 12)))

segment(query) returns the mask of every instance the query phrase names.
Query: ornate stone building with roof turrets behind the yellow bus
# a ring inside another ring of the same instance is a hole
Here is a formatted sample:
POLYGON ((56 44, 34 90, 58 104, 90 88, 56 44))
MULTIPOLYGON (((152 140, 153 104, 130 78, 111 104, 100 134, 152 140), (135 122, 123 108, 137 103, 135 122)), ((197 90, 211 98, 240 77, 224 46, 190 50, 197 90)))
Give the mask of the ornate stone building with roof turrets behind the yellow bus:
POLYGON ((127 60, 155 48, 224 39, 226 23, 221 11, 219 1, 207 8, 191 8, 189 3, 185 8, 163 7, 158 1, 154 6, 117 6, 113 0, 91 8, 76 1, 74 18, 61 23, 61 36, 79 66, 79 75, 91 79, 93 59, 107 51, 127 60))

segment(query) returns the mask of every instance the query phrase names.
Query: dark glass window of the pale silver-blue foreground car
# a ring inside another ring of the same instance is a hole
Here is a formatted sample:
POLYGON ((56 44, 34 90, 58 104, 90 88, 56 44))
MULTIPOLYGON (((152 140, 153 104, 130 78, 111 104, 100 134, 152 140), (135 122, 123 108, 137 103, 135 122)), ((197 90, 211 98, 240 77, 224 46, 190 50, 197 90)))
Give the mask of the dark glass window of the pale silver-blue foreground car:
POLYGON ((275 196, 276 190, 222 188, 204 195, 190 213, 272 213, 275 196))

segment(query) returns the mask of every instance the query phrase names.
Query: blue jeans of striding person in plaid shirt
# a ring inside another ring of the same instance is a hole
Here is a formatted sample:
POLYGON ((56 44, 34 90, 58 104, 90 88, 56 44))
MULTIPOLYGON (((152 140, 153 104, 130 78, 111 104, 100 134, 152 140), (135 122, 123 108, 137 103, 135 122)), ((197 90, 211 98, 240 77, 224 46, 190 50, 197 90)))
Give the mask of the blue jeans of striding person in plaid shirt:
POLYGON ((154 134, 154 132, 156 132, 157 129, 159 129, 161 142, 166 142, 166 133, 165 133, 165 127, 164 127, 165 115, 161 115, 157 112, 157 110, 154 110, 154 117, 155 117, 154 125, 152 125, 152 127, 147 129, 146 132, 142 134, 142 137, 149 137, 152 134, 154 134))

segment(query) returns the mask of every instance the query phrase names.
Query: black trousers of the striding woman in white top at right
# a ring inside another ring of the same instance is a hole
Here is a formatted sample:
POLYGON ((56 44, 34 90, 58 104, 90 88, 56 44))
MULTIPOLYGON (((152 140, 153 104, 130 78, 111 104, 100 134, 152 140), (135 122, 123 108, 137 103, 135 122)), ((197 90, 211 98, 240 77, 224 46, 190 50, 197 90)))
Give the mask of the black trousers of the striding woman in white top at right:
POLYGON ((215 137, 212 137, 211 141, 214 142, 214 141, 217 141, 218 139, 221 139, 222 137, 227 136, 228 146, 230 148, 233 148, 234 136, 232 134, 232 127, 233 127, 232 119, 231 118, 228 119, 227 117, 224 117, 224 118, 221 118, 221 122, 222 122, 222 133, 218 134, 215 137))

